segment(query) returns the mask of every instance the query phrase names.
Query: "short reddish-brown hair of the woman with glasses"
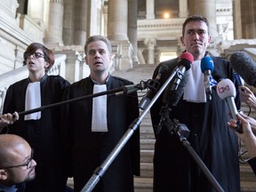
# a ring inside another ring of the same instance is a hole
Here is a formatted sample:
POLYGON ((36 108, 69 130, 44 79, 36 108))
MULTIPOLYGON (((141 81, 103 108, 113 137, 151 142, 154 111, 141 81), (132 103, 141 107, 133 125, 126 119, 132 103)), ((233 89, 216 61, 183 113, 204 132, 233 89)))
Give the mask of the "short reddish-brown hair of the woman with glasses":
POLYGON ((44 44, 39 44, 39 43, 29 44, 27 47, 27 50, 23 54, 23 59, 24 59, 23 63, 26 65, 26 60, 28 56, 31 54, 34 54, 38 49, 44 52, 44 60, 49 62, 49 67, 45 68, 45 72, 48 72, 49 69, 52 68, 55 58, 52 50, 49 50, 47 47, 44 46, 44 44))

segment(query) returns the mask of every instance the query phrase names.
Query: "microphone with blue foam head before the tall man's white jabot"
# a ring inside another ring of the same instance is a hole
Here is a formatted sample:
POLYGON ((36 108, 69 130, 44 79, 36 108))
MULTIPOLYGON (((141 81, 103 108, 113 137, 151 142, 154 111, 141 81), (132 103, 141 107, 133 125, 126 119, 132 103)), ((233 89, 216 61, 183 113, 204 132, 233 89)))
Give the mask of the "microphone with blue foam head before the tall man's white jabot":
POLYGON ((204 87, 207 100, 212 100, 212 86, 217 84, 212 77, 213 68, 214 64, 211 57, 204 57, 201 60, 201 70, 204 73, 204 87))

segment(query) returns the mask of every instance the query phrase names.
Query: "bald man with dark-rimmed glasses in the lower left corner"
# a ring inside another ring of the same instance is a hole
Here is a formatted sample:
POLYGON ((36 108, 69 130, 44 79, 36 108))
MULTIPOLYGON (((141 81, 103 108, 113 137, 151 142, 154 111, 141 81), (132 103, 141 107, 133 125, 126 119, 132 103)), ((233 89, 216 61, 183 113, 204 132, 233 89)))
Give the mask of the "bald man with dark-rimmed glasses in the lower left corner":
POLYGON ((0 192, 16 191, 16 184, 33 180, 35 167, 33 149, 26 140, 13 134, 0 135, 0 192))

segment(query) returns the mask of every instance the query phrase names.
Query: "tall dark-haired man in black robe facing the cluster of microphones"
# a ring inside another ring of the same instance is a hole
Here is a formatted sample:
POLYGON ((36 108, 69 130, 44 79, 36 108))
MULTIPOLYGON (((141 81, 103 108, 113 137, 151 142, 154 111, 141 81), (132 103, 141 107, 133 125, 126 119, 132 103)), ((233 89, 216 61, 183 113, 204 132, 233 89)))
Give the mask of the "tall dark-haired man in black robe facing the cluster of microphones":
MULTIPOLYGON (((172 108, 170 119, 174 118, 188 127, 192 148, 203 160, 213 177, 224 191, 240 191, 238 145, 237 137, 227 127, 230 119, 228 105, 225 100, 220 100, 216 89, 212 88, 212 100, 206 100, 204 89, 204 74, 200 68, 201 60, 210 56, 206 52, 211 41, 209 36, 208 21, 201 16, 191 16, 185 20, 182 28, 181 43, 186 52, 190 52, 194 61, 188 69, 188 83, 184 87, 184 94, 172 108)), ((228 60, 212 57, 214 78, 229 78, 233 80, 232 68, 228 60)), ((153 78, 156 78, 158 68, 166 65, 169 72, 160 79, 164 84, 177 67, 178 58, 166 60, 156 68, 153 78)), ((187 72, 186 72, 187 73, 187 72)), ((218 81, 220 79, 216 79, 218 81)), ((173 83, 173 80, 171 84, 173 83)), ((152 124, 156 133, 161 116, 159 112, 165 103, 162 94, 150 110, 152 124)), ((239 98, 237 92, 236 99, 239 98)), ((177 98, 169 97, 168 103, 175 103, 177 98), (173 101, 174 100, 174 101, 173 101)), ((240 105, 240 101, 237 105, 240 105)), ((194 158, 180 142, 176 134, 171 134, 163 125, 156 134, 154 156, 154 191, 156 192, 213 192, 215 188, 205 177, 194 158)), ((171 127, 172 128, 172 127, 171 127)), ((173 131, 173 129, 172 129, 173 131)))

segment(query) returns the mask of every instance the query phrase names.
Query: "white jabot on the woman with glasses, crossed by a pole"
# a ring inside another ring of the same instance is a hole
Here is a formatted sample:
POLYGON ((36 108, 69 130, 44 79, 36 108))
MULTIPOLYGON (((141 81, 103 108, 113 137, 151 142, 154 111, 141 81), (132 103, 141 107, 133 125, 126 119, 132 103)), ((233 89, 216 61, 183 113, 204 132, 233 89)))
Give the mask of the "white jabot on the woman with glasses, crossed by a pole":
MULTIPOLYGON (((29 83, 26 91, 25 110, 41 107, 40 82, 29 83)), ((24 116, 24 120, 37 120, 41 118, 41 111, 24 116)))

